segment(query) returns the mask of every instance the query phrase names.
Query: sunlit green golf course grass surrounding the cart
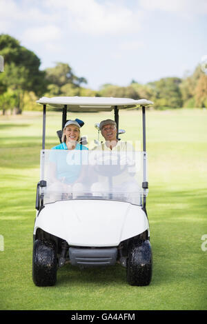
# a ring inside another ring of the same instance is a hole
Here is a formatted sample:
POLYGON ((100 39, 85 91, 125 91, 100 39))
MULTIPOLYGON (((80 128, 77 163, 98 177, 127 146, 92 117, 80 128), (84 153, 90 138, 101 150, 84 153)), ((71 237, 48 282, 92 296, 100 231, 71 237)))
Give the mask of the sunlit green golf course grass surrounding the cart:
MULTIPOLYGON (((94 123, 113 114, 70 114, 86 122, 82 134, 97 138, 94 123)), ((47 116, 46 148, 58 143, 61 114, 47 116)), ((123 139, 141 139, 141 112, 120 112, 123 139)), ((55 287, 32 282, 32 232, 39 181, 41 113, 0 117, 1 310, 206 310, 207 111, 146 113, 147 210, 153 252, 152 282, 132 287, 119 265, 57 272, 55 287)))

